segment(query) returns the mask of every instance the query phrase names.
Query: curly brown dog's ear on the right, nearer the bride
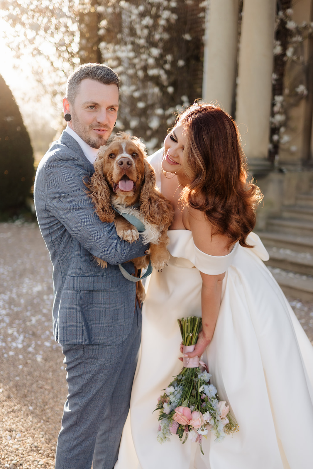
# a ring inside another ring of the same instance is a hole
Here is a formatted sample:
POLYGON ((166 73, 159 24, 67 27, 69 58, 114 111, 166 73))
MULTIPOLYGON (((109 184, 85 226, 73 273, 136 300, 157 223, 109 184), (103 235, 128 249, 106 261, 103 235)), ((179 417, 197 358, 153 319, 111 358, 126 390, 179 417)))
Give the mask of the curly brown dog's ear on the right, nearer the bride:
POLYGON ((146 221, 157 225, 160 231, 167 229, 173 217, 173 209, 168 200, 155 188, 153 167, 145 159, 145 181, 140 193, 140 212, 146 221))

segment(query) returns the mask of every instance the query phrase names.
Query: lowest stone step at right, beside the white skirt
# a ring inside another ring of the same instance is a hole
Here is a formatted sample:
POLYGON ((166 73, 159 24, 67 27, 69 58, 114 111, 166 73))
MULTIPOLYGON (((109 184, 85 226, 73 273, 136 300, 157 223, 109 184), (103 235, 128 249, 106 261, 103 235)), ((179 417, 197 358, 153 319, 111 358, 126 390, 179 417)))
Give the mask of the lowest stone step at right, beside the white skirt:
POLYGON ((313 300, 313 276, 301 275, 297 272, 271 266, 268 266, 268 270, 272 273, 285 295, 290 295, 303 301, 313 300))

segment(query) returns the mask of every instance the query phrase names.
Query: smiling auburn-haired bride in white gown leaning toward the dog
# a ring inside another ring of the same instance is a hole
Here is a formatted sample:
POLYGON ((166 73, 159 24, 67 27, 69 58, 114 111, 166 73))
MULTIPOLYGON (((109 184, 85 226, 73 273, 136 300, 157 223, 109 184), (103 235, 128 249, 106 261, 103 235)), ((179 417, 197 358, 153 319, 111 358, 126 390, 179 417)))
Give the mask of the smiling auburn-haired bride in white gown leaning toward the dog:
POLYGON ((246 182, 235 122, 194 104, 150 159, 175 209, 170 261, 153 271, 141 357, 115 469, 309 469, 313 348, 252 233, 260 190, 246 182), (157 441, 157 399, 181 370, 177 318, 202 315, 195 351, 239 431, 221 442, 157 441))

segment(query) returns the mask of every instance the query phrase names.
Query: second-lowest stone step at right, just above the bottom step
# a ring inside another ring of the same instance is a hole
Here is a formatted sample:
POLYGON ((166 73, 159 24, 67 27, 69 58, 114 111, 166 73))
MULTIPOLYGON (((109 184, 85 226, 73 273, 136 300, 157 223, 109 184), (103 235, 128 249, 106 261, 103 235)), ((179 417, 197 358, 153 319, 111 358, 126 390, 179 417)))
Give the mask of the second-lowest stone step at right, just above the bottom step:
POLYGON ((313 276, 313 253, 298 252, 276 246, 267 247, 267 251, 269 260, 265 263, 266 265, 313 276))

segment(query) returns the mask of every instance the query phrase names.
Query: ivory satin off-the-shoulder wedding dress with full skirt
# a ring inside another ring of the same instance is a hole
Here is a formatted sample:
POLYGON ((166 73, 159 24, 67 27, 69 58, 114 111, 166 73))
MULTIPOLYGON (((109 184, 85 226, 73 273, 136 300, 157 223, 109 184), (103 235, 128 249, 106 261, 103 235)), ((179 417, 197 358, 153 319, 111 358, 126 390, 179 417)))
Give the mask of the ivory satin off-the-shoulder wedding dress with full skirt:
MULTIPOLYGON (((150 162, 160 168, 160 151, 150 162)), ((141 357, 115 469, 312 469, 313 347, 262 260, 256 234, 223 257, 168 232, 168 266, 153 273, 143 307, 141 357), (157 398, 182 368, 177 318, 201 315, 201 272, 226 272, 214 337, 203 360, 239 431, 214 442, 157 441, 157 398)))

